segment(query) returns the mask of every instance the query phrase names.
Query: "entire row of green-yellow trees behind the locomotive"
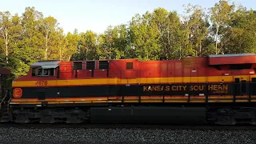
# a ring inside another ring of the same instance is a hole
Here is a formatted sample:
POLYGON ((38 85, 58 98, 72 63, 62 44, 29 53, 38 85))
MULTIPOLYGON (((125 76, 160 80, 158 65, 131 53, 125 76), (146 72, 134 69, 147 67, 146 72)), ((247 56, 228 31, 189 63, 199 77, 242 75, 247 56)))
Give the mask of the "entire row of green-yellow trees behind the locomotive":
POLYGON ((63 34, 57 19, 44 17, 34 7, 22 15, 3 11, 1 65, 17 78, 38 60, 158 60, 255 52, 254 10, 223 0, 208 10, 190 4, 184 10, 181 15, 163 8, 135 14, 128 24, 109 26, 103 34, 91 30, 63 34))

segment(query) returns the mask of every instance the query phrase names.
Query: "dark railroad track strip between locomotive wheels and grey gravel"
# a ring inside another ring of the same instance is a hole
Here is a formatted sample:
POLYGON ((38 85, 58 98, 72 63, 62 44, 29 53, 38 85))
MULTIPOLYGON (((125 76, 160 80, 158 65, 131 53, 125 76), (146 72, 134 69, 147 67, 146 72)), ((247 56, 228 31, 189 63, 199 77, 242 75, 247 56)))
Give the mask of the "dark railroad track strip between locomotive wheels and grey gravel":
POLYGON ((21 129, 156 129, 156 130, 256 130, 256 126, 172 126, 172 125, 134 125, 134 124, 17 124, 0 123, 1 128, 21 129))

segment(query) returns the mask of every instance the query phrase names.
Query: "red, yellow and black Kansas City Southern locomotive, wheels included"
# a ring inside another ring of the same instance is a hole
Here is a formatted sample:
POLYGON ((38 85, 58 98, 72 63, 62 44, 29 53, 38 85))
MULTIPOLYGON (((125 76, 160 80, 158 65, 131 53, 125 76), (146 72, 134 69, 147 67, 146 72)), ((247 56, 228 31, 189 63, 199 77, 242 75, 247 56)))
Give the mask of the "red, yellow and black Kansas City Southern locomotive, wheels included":
POLYGON ((255 68, 256 54, 35 62, 12 83, 9 121, 255 125, 255 68))

